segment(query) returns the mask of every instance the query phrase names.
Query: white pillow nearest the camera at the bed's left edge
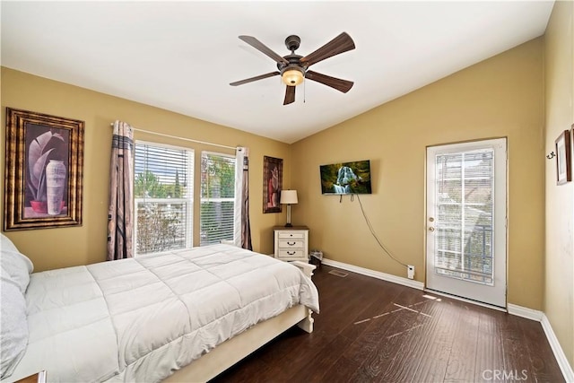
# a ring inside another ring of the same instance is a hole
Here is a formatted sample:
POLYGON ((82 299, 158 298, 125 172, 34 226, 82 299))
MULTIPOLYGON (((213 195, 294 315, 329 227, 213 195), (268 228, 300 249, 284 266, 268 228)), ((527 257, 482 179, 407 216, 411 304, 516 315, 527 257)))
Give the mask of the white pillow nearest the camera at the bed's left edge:
POLYGON ((12 375, 28 346, 26 300, 18 283, 0 266, 0 379, 12 375))

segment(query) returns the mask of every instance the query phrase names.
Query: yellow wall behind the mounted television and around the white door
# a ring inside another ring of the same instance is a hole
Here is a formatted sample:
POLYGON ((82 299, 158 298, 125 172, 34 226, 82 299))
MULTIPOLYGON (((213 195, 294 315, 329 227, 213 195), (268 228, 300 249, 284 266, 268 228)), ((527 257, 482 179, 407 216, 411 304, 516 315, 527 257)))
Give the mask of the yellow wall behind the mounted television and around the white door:
POLYGON ((378 238, 424 281, 429 145, 508 137, 508 300, 543 308, 544 40, 534 39, 292 145, 293 222, 324 257, 406 277, 378 248, 355 197, 322 196, 319 165, 370 159, 361 203, 378 238))

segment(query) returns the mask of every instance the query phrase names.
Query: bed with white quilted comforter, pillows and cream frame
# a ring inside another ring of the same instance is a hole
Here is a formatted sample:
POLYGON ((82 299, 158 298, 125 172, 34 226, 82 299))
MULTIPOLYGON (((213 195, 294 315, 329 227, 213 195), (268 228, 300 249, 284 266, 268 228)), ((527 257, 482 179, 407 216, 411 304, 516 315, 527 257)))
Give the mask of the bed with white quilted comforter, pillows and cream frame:
POLYGON ((313 265, 228 244, 42 273, 1 249, 2 382, 207 381, 319 310, 313 265))

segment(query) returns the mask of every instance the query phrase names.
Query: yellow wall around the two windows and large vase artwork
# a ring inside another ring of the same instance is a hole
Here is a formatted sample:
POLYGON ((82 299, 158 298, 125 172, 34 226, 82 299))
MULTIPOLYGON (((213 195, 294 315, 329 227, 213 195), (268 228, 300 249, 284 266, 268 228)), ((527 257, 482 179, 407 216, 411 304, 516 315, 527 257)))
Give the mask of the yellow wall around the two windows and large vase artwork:
MULTIPOLYGON (((247 146, 250 151, 249 199, 253 248, 273 253, 273 226, 285 222, 283 213, 263 213, 263 157, 283 159, 283 187, 289 182, 290 148, 274 140, 250 135, 230 127, 218 126, 196 118, 188 118, 163 109, 88 91, 65 83, 2 68, 2 148, 0 171, 4 178, 5 109, 25 109, 85 121, 83 226, 74 228, 8 231, 22 253, 28 255, 35 271, 70 265, 86 265, 106 258, 109 205, 109 157, 111 122, 120 119, 145 130, 188 137, 204 142, 235 147, 247 146)), ((222 113, 225 111, 222 110, 222 113)), ((196 149, 196 167, 201 163, 201 150, 233 153, 213 146, 175 142, 160 136, 137 134, 136 139, 166 144, 189 145, 196 149)), ((196 174, 199 170, 196 168, 196 174)), ((4 212, 4 186, 0 187, 0 211, 4 212)), ((196 188, 196 196, 199 190, 196 188)), ((194 227, 199 227, 199 205, 196 202, 194 227)), ((194 242, 198 243, 196 231, 194 242)))

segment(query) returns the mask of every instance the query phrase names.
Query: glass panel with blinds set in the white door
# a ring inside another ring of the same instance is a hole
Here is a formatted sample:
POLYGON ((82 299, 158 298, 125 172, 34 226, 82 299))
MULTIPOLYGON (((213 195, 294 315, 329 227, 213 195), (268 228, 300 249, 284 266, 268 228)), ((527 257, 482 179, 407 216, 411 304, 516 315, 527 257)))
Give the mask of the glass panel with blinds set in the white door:
POLYGON ((494 150, 441 153, 435 160, 434 272, 491 285, 494 150))

